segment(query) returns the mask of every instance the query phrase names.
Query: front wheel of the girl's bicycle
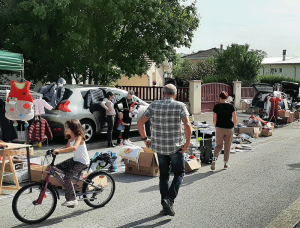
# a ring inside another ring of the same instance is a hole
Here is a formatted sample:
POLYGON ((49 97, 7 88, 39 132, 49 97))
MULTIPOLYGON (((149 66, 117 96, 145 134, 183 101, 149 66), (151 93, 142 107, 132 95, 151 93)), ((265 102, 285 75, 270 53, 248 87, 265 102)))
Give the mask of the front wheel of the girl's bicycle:
POLYGON ((27 224, 46 220, 55 210, 57 196, 53 187, 48 186, 43 202, 37 205, 42 190, 41 183, 32 183, 21 188, 14 196, 12 210, 17 219, 27 224))

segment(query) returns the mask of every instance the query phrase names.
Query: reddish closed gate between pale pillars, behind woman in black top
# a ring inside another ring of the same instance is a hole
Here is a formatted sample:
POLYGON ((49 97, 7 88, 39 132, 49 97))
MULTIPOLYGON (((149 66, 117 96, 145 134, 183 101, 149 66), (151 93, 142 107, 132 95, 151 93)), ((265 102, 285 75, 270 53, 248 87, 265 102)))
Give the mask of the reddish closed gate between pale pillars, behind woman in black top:
POLYGON ((223 83, 208 83, 201 86, 201 112, 211 112, 219 103, 219 95, 226 91, 232 95, 232 87, 223 83))

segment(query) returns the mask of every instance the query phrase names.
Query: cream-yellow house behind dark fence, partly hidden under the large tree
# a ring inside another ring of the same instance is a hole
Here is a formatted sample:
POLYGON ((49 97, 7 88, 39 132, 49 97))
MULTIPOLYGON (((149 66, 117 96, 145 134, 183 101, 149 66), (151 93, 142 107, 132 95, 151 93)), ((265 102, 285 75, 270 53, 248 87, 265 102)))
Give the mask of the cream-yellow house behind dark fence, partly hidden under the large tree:
POLYGON ((172 78, 172 63, 167 60, 161 64, 157 64, 154 61, 147 59, 148 71, 143 74, 142 77, 136 75, 132 78, 123 76, 118 80, 115 85, 119 86, 164 86, 165 78, 172 78))

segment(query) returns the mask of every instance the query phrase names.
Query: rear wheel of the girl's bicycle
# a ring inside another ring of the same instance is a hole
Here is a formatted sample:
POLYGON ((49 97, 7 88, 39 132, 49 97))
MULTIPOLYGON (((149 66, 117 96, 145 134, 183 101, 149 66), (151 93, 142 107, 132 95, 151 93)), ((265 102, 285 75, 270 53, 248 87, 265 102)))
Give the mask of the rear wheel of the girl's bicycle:
POLYGON ((115 180, 111 175, 105 172, 95 172, 90 174, 86 180, 97 186, 83 184, 82 193, 89 193, 83 196, 87 205, 94 208, 103 207, 111 200, 115 193, 115 180))

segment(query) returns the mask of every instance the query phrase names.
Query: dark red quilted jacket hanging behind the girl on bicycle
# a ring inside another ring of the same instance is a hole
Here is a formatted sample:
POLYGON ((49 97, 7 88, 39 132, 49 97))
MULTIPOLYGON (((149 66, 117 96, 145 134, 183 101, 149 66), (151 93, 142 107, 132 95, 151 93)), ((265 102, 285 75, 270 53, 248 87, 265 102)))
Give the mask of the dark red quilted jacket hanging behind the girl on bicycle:
POLYGON ((33 120, 29 121, 29 124, 29 141, 33 143, 43 142, 45 141, 45 135, 48 139, 53 138, 49 124, 45 119, 39 117, 36 120, 36 118, 34 118, 33 120))

